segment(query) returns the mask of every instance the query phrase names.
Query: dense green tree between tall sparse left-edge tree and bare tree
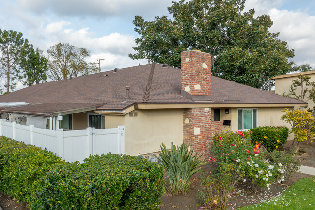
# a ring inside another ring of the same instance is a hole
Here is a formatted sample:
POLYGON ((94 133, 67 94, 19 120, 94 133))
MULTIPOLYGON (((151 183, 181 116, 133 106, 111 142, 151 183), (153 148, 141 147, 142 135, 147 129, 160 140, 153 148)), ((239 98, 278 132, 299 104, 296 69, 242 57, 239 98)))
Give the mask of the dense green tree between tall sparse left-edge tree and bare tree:
POLYGON ((46 82, 47 80, 47 58, 43 56, 43 51, 30 45, 23 51, 22 60, 20 63, 23 69, 23 77, 26 81, 22 81, 23 85, 31 86, 32 84, 38 84, 40 82, 46 82))

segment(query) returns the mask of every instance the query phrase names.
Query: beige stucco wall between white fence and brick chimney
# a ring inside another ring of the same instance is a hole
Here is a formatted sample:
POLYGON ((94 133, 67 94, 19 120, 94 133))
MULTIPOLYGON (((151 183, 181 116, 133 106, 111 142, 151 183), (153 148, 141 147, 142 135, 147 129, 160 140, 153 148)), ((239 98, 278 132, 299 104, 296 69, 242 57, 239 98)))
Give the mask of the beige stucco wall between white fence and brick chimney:
POLYGON ((163 142, 183 142, 183 109, 135 110, 138 116, 125 115, 125 153, 146 154, 160 150, 163 142))

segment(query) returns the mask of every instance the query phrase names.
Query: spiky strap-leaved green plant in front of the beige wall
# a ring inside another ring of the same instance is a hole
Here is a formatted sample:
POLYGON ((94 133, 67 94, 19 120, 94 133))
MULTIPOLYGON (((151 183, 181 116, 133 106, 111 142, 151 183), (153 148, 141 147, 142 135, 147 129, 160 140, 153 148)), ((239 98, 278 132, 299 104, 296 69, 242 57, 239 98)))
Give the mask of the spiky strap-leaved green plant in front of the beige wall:
POLYGON ((172 142, 171 151, 162 143, 159 159, 167 172, 167 189, 171 194, 187 193, 190 187, 190 177, 198 172, 199 166, 205 164, 193 149, 188 151, 189 145, 184 143, 177 148, 172 142))

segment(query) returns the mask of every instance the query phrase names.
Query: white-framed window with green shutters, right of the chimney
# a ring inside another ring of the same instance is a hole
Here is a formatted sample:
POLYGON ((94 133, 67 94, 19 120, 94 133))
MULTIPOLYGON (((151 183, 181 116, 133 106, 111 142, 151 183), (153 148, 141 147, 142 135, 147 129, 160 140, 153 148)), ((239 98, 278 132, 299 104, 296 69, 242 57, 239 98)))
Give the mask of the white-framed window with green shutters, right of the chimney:
POLYGON ((238 109, 238 130, 247 130, 257 127, 257 109, 238 109))

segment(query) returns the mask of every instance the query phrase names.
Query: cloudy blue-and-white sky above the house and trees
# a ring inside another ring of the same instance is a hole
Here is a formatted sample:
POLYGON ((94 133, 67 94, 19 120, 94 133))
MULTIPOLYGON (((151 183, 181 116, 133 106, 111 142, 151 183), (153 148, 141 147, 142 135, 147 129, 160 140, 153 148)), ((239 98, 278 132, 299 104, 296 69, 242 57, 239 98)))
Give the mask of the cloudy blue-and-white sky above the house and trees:
MULTIPOLYGON (((89 62, 104 59, 100 67, 108 71, 147 63, 128 57, 138 37, 134 16, 171 17, 171 5, 172 0, 0 0, 0 29, 22 32, 44 52, 59 42, 87 48, 89 62)), ((270 16, 270 32, 279 32, 295 50, 296 65, 315 68, 315 0, 247 0, 245 11, 251 8, 255 16, 270 16)))

